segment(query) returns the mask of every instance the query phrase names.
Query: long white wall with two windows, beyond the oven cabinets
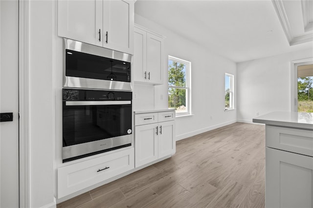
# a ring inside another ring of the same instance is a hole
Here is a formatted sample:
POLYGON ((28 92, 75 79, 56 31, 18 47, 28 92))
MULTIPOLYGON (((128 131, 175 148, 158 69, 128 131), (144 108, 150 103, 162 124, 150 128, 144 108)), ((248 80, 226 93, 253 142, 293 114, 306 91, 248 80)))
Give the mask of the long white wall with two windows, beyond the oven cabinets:
MULTIPOLYGON (((166 37, 164 40, 164 84, 145 87, 134 84, 135 110, 168 108, 168 55, 191 62, 192 116, 176 119, 177 140, 236 122, 236 110, 224 111, 224 74, 235 75, 236 63, 199 44, 135 14, 135 23, 166 37), (154 105, 151 95, 154 94, 154 105), (161 100, 163 97, 163 100, 161 100), (145 99, 149 99, 148 104, 145 99), (211 119, 212 117, 212 119, 211 119)), ((201 34, 203 35, 203 34, 201 34)), ((135 69, 134 69, 135 70, 135 69)), ((236 98, 236 95, 235 95, 236 98)))

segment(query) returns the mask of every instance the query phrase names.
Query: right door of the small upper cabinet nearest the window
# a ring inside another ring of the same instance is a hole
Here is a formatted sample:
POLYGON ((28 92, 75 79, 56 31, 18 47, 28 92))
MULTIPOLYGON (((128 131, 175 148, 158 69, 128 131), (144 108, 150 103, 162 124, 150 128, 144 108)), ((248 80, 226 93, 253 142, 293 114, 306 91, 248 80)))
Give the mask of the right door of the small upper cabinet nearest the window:
POLYGON ((163 39, 147 33, 147 80, 150 83, 163 83, 163 39))

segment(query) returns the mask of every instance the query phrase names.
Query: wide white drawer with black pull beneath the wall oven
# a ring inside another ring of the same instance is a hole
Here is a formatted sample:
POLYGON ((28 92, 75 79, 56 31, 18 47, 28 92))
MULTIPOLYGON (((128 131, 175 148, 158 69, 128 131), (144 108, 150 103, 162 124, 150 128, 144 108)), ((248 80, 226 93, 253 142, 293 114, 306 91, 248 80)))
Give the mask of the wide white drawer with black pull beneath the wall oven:
POLYGON ((134 168, 134 148, 58 168, 58 198, 134 168))

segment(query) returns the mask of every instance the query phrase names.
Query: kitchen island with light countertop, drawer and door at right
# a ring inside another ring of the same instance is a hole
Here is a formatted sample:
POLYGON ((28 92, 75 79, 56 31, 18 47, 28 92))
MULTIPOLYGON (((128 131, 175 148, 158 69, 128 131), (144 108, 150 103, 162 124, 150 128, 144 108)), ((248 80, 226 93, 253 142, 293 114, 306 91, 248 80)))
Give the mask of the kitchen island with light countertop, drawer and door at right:
POLYGON ((313 208, 313 113, 272 112, 266 125, 266 207, 313 208))

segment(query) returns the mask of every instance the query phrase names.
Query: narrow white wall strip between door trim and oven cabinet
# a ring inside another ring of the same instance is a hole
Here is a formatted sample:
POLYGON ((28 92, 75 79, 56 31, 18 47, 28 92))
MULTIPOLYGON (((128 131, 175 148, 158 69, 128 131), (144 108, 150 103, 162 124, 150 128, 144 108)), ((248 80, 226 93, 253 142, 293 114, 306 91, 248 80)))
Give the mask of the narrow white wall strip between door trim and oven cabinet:
POLYGON ((30 207, 53 207, 55 1, 29 1, 30 207))

